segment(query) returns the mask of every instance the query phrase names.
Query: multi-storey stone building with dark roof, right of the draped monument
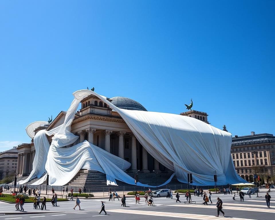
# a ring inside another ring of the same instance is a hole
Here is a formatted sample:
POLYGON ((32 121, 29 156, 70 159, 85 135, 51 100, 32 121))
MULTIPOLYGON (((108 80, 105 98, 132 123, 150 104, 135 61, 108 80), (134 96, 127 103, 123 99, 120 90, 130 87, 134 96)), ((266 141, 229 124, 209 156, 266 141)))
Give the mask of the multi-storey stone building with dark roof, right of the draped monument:
POLYGON ((236 172, 243 179, 254 182, 254 174, 261 182, 275 175, 275 137, 262 133, 232 138, 231 155, 236 172))

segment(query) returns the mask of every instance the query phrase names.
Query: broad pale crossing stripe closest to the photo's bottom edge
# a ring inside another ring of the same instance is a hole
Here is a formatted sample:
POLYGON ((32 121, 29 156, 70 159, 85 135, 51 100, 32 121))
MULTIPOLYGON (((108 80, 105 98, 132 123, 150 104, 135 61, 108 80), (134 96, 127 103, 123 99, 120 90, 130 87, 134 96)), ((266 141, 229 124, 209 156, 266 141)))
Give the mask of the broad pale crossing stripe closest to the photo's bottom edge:
MULTIPOLYGON (((189 213, 174 213, 174 212, 158 212, 158 211, 140 211, 133 209, 110 209, 108 212, 114 213, 127 213, 127 214, 136 214, 136 215, 152 215, 160 217, 173 217, 173 218, 183 218, 183 219, 198 219, 198 220, 220 220, 219 217, 213 215, 198 215, 198 214, 189 214, 189 213)), ((234 218, 227 217, 227 220, 254 220, 254 219, 243 219, 243 218, 234 218)))

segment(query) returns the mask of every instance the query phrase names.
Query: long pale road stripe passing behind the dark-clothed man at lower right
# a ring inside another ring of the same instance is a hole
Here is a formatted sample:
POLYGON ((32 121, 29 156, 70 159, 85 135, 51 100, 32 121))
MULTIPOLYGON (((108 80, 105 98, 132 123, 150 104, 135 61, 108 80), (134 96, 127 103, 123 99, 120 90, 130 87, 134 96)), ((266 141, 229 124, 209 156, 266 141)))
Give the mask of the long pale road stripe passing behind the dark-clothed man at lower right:
MULTIPOLYGON (((168 205, 168 206, 184 206, 184 207, 196 207, 196 208, 206 208, 206 209, 217 209, 216 206, 212 205, 195 205, 195 204, 184 204, 184 205, 168 205)), ((253 205, 251 205, 253 206, 253 205)), ((256 206, 256 205, 255 205, 256 206)), ((275 209, 258 209, 252 207, 238 207, 238 206, 224 206, 223 209, 231 209, 231 210, 239 210, 239 211, 253 211, 253 212, 268 212, 268 213, 275 213, 275 209)))

